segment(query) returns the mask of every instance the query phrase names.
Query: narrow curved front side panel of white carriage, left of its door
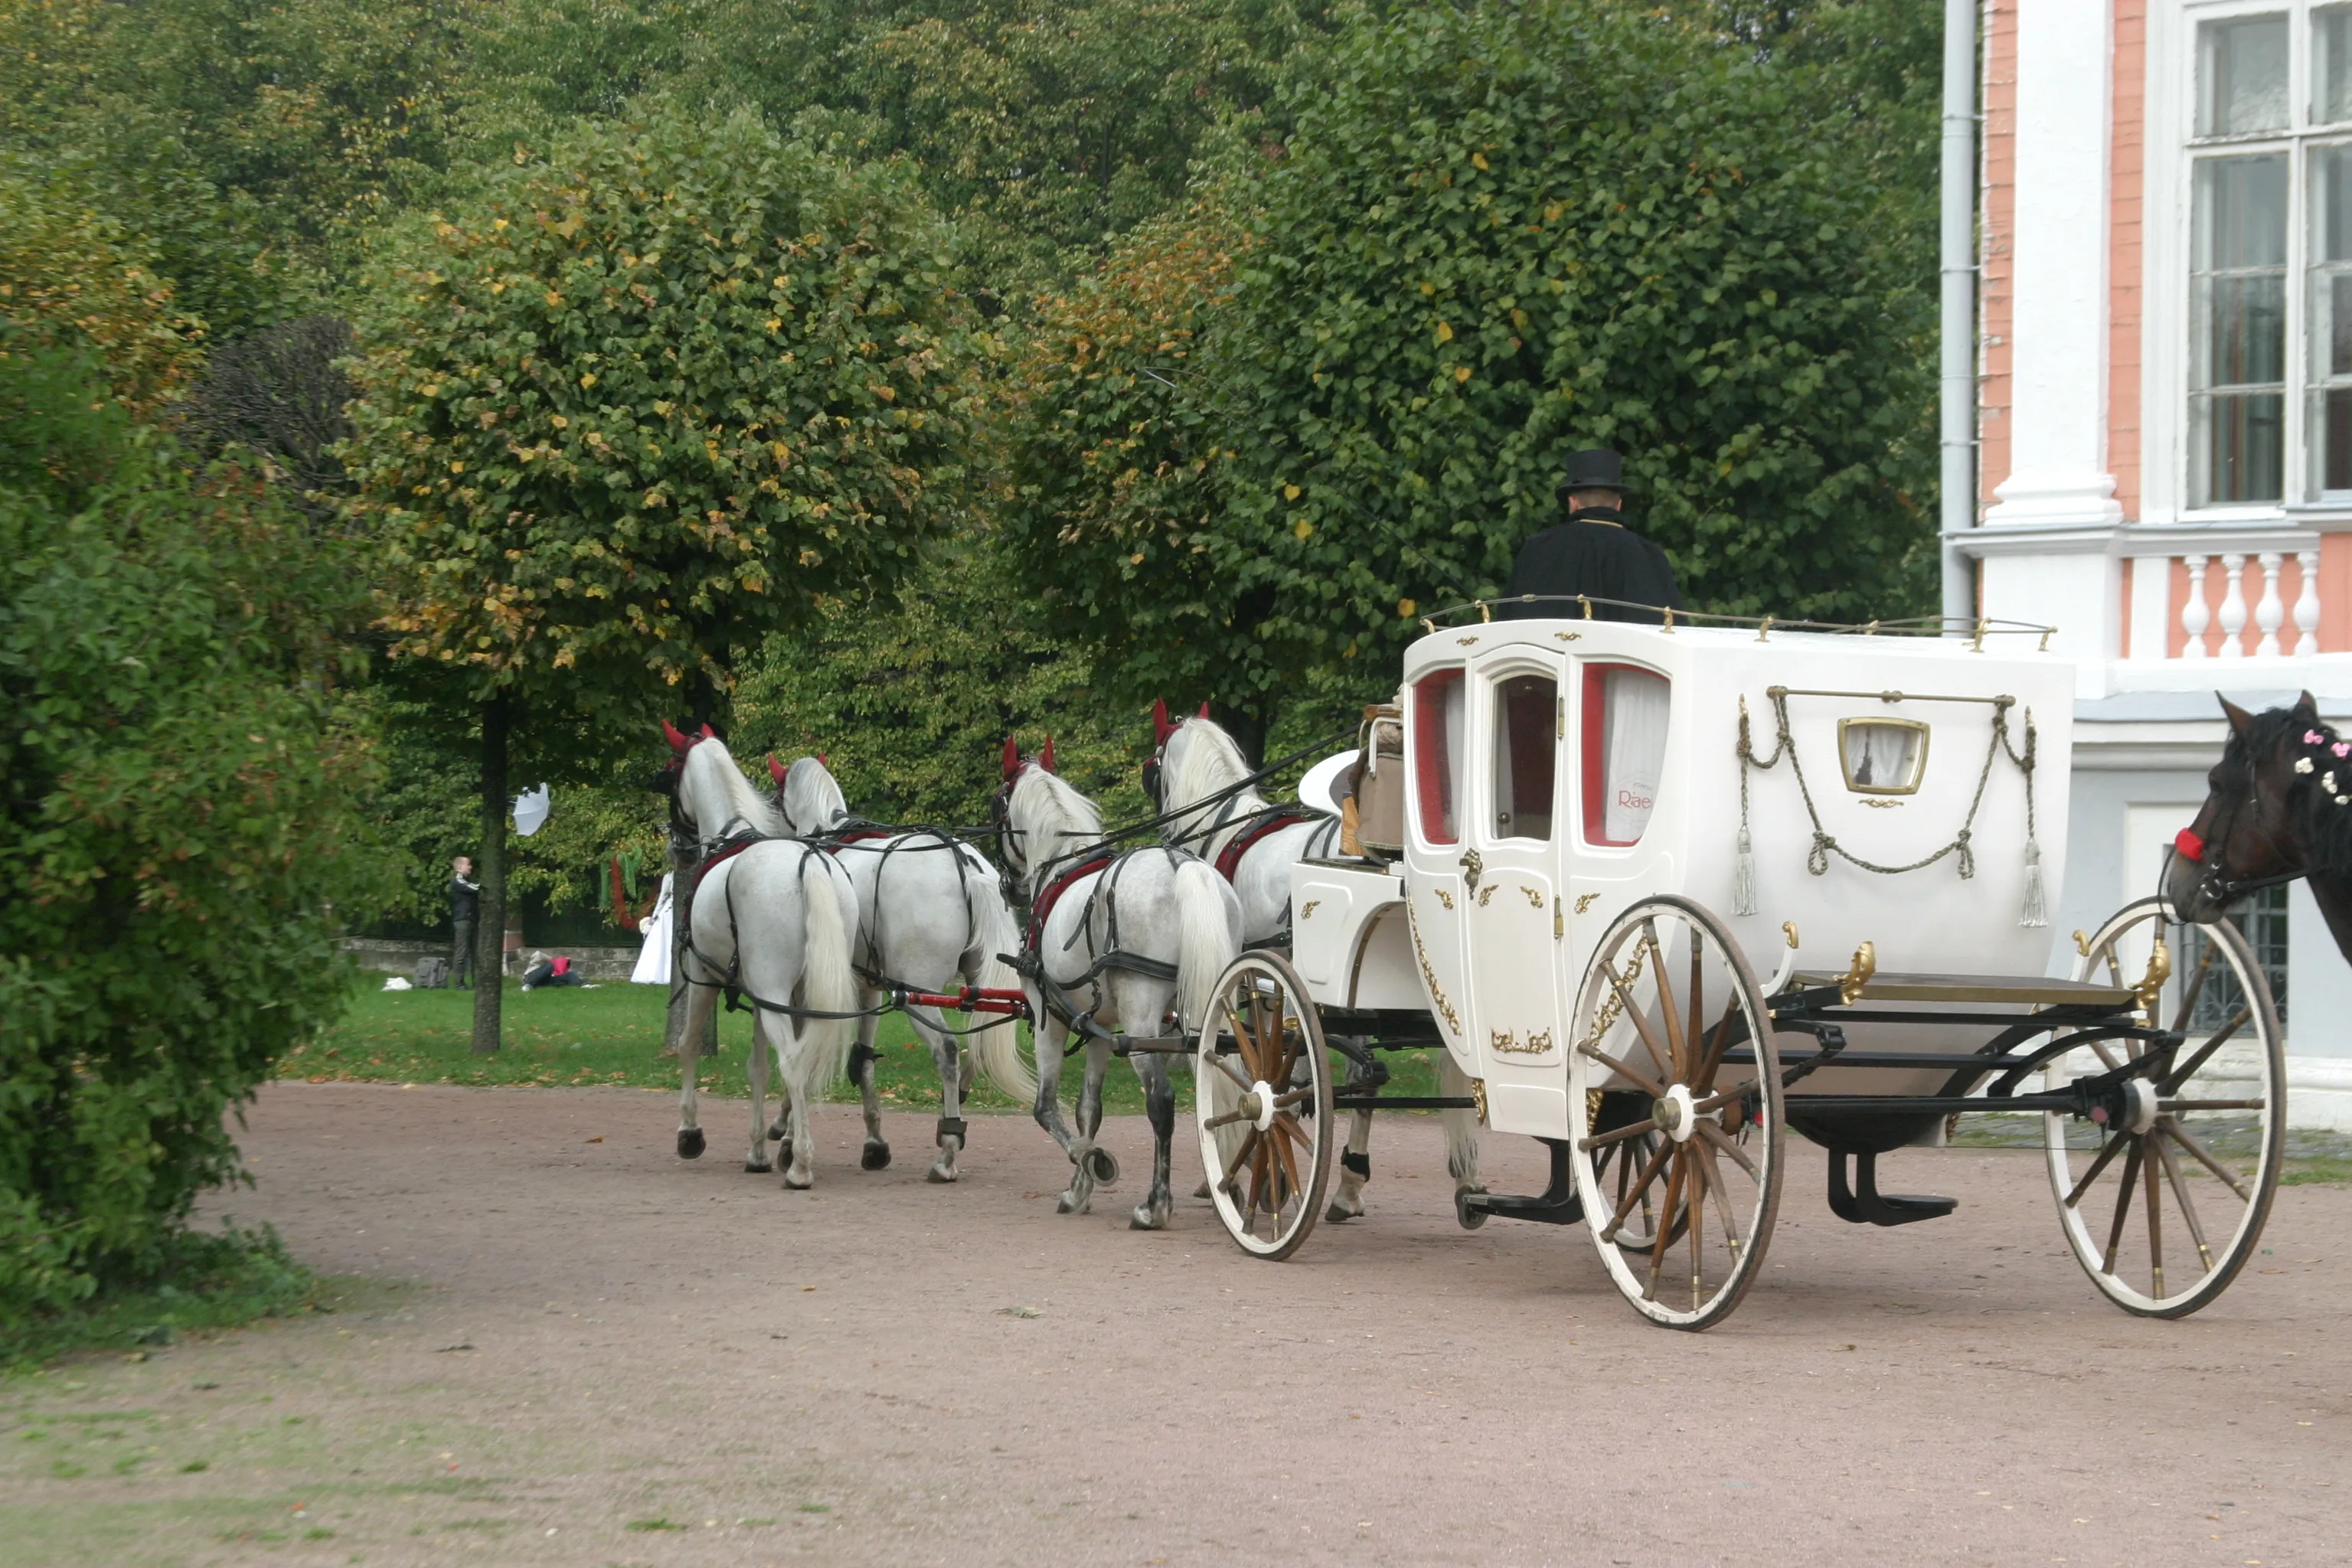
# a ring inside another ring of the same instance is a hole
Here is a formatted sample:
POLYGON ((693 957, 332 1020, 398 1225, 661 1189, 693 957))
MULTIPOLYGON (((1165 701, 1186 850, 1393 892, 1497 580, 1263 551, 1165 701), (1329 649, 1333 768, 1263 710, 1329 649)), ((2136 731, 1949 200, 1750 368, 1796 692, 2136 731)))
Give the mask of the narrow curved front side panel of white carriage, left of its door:
POLYGON ((1463 985, 1463 917, 1470 898, 1470 844, 1463 830, 1470 806, 1470 698, 1463 670, 1425 672, 1406 689, 1404 703, 1404 745, 1411 752, 1404 802, 1406 931, 1437 1032, 1461 1070, 1475 1077, 1470 987, 1463 985))

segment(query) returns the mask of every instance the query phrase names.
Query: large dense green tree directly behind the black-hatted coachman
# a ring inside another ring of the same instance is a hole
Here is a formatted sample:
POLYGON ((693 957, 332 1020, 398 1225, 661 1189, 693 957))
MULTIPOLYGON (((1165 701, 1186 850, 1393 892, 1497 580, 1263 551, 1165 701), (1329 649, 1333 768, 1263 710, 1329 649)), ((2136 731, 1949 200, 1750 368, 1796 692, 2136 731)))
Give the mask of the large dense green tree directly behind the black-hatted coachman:
MULTIPOLYGON (((1364 12, 1327 78, 1223 193, 1256 216, 1181 371, 1148 331, 1070 353, 1051 310, 1030 355, 1007 534, 1127 689, 1263 717, 1385 668, 1592 444, 1698 604, 1910 609, 1929 299, 1877 270, 1813 78, 1599 0, 1364 12)), ((1164 249, 1101 287, 1150 296, 1164 249)))

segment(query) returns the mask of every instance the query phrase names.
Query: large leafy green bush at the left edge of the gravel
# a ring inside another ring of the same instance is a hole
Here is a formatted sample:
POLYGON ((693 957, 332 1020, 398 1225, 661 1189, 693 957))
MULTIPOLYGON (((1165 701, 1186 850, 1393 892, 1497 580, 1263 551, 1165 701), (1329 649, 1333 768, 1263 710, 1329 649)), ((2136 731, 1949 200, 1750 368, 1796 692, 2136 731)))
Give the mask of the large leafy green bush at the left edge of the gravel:
MULTIPOLYGON (((0 324, 5 329, 5 324, 0 324)), ((346 992, 341 557, 191 473, 87 357, 0 343, 0 1321, 136 1279, 221 1119, 346 992)))

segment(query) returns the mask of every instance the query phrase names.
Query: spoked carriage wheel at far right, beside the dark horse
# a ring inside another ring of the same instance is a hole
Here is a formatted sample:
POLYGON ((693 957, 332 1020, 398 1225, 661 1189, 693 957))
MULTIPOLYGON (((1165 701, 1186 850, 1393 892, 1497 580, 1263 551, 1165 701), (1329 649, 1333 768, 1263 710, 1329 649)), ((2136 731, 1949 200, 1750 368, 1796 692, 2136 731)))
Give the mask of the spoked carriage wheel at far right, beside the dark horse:
POLYGON ((2187 1316, 2253 1255, 2279 1185, 2286 1044, 2270 980, 2237 926, 2183 924, 2161 898, 2100 926, 2074 978, 2138 992, 2138 1023, 2161 1037, 2044 1067, 2044 1091, 2122 1077, 2093 1119, 2044 1119, 2058 1220, 2117 1307, 2187 1316))

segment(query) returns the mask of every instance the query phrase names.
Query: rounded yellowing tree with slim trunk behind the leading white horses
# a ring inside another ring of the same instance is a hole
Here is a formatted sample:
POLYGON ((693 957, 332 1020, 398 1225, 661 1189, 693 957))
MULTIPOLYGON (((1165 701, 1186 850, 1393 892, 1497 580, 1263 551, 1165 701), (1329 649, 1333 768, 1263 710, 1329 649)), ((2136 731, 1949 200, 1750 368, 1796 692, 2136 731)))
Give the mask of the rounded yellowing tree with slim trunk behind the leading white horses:
MULTIPOLYGON (((555 769, 666 705, 722 717, 736 649, 953 508, 948 240, 901 169, 739 113, 586 125, 393 247, 355 324, 355 515, 395 668, 480 724, 489 954, 517 741, 555 769)), ((482 987, 477 1051, 496 1023, 482 987)))

